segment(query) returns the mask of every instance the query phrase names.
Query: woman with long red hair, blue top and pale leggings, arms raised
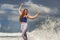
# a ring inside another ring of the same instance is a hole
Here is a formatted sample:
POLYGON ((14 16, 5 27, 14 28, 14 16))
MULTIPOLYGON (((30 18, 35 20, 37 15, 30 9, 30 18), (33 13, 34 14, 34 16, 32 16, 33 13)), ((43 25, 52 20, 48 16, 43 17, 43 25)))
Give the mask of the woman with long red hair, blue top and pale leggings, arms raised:
POLYGON ((34 19, 36 18, 38 15, 39 15, 39 12, 37 12, 37 14, 35 16, 30 16, 28 15, 28 9, 24 9, 22 11, 22 6, 23 6, 23 3, 21 3, 19 9, 18 9, 18 12, 20 14, 20 23, 21 23, 21 31, 22 31, 22 37, 24 40, 27 40, 27 29, 28 29, 28 24, 27 24, 27 19, 30 18, 30 19, 34 19))

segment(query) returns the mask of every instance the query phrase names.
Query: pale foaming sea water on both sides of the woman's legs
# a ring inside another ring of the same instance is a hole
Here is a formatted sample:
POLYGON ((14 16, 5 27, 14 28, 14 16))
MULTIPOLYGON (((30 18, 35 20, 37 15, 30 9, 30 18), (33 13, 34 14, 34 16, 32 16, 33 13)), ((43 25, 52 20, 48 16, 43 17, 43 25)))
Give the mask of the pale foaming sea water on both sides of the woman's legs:
MULTIPOLYGON (((60 18, 48 17, 45 19, 45 22, 36 25, 36 28, 34 30, 32 30, 31 32, 27 32, 28 40, 60 40, 59 27, 60 27, 60 18)), ((3 37, 3 38, 0 37, 0 38, 1 40, 7 38, 9 40, 23 40, 22 37, 18 37, 20 33, 18 34, 17 33, 13 34, 13 36, 17 37, 3 37)), ((12 33, 8 35, 12 36, 12 33)))

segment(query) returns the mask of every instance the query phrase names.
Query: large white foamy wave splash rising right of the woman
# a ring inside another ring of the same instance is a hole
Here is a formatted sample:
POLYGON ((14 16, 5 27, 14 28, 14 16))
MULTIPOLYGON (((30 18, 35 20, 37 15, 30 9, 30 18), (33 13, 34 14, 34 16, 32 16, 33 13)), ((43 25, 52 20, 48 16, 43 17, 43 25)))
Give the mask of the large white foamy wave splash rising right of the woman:
POLYGON ((29 34, 30 40, 60 40, 60 18, 48 18, 29 34), (41 29, 42 27, 42 29, 41 29))

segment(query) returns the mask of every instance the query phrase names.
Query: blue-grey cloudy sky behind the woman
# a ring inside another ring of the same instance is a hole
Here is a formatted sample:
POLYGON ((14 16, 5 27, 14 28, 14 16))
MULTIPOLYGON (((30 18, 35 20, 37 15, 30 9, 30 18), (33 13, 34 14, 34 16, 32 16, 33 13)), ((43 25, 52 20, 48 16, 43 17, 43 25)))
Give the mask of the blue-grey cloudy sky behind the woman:
MULTIPOLYGON (((38 10, 41 16, 60 18, 60 0, 0 0, 0 32, 20 32, 18 8, 21 3, 24 3, 22 9, 28 8, 30 15, 38 10)), ((28 21, 29 27, 40 23, 39 18, 28 21)))

